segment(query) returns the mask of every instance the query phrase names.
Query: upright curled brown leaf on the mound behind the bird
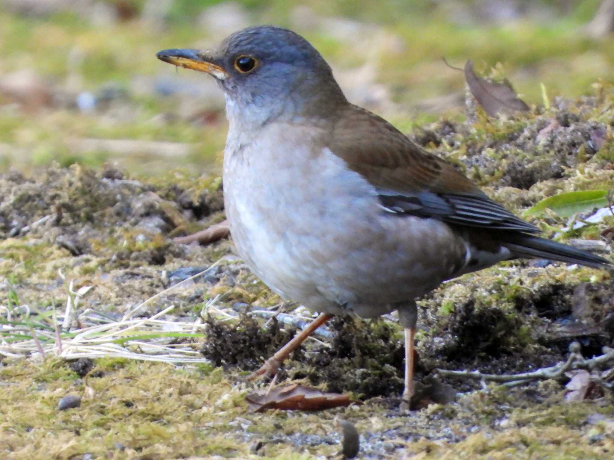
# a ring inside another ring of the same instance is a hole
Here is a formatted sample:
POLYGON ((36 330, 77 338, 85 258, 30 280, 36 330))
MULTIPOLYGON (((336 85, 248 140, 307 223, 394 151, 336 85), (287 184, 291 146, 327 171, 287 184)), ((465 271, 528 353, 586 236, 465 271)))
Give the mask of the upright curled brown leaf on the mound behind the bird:
POLYGON ((471 59, 465 64, 465 80, 469 91, 490 117, 497 113, 527 112, 529 106, 516 96, 510 83, 489 82, 473 71, 471 59))

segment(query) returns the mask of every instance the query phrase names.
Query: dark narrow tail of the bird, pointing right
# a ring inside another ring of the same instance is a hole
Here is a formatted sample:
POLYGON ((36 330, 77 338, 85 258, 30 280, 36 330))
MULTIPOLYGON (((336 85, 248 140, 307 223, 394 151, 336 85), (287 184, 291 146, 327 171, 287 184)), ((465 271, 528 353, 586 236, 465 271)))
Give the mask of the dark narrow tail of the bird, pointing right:
POLYGON ((545 240, 538 236, 522 234, 513 239, 510 238, 509 241, 503 245, 518 258, 550 259, 595 268, 612 267, 612 262, 588 251, 545 240))

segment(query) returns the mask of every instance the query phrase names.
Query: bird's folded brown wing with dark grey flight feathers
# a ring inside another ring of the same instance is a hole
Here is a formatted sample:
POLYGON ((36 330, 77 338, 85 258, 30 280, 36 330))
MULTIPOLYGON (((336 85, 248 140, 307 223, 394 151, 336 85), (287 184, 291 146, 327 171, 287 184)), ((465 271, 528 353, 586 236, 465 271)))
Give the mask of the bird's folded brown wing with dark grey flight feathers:
POLYGON ((333 129, 331 150, 375 186, 379 201, 389 212, 472 227, 540 232, 383 118, 355 105, 348 110, 333 129), (359 142, 357 131, 361 133, 359 142))

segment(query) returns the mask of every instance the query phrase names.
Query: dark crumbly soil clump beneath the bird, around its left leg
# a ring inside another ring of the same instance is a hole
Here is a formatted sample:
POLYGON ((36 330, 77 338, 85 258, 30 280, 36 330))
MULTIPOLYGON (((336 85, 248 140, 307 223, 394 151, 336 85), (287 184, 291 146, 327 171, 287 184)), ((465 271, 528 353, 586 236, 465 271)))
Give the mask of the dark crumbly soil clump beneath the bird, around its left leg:
MULTIPOLYGON (((403 391, 405 355, 398 328, 350 316, 335 317, 327 324, 335 331, 330 344, 298 348, 282 365, 278 380, 306 378, 312 385, 325 385, 328 391, 351 391, 363 399, 396 397, 403 391)), ((233 372, 255 370, 294 333, 293 329, 279 329, 277 321, 263 329, 244 316, 235 324, 210 321, 201 351, 217 366, 233 372)))

